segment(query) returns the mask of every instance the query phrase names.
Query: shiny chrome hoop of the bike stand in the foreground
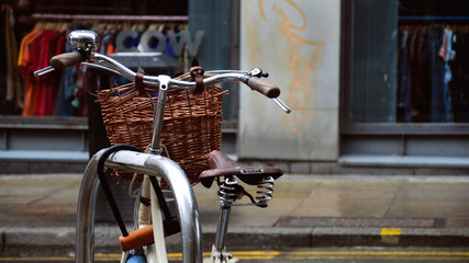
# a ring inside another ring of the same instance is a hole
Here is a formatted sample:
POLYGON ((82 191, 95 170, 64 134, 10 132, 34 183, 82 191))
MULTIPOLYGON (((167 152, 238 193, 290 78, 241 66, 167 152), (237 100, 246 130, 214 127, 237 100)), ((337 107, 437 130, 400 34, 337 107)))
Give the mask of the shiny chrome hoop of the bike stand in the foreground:
MULTIPOLYGON (((77 258, 76 262, 91 262, 92 259, 92 226, 91 190, 97 181, 97 162, 102 151, 97 152, 90 160, 83 174, 77 220, 77 258), (87 247, 88 245, 88 247, 87 247)), ((182 233, 182 262, 202 263, 202 230, 199 221, 199 210, 196 197, 186 173, 172 160, 147 153, 121 150, 111 155, 105 165, 122 170, 132 170, 148 175, 160 175, 172 190, 182 233)))

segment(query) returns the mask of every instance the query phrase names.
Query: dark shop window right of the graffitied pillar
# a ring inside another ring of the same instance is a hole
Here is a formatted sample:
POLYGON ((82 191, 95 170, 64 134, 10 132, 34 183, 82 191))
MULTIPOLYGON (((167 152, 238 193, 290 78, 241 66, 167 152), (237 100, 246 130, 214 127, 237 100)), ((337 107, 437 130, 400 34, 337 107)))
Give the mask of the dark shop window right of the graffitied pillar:
POLYGON ((416 124, 469 122, 466 1, 343 5, 345 130, 357 124, 400 124, 402 132, 416 124))

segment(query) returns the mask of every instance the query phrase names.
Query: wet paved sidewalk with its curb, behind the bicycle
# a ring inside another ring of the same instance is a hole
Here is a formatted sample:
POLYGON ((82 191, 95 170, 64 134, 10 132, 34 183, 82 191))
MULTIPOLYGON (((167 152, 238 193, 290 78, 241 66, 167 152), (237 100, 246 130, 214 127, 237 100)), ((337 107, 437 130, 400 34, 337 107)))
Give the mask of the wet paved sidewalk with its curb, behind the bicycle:
MULTIPOLYGON (((20 245, 72 251, 80 181, 78 174, 0 175, 1 253, 20 245)), ((219 216, 216 188, 199 184, 194 192, 208 247, 219 216)), ((97 247, 115 245, 118 231, 112 222, 98 224, 97 247)), ((238 244, 469 248, 469 176, 287 174, 269 207, 232 209, 227 247, 238 244)))

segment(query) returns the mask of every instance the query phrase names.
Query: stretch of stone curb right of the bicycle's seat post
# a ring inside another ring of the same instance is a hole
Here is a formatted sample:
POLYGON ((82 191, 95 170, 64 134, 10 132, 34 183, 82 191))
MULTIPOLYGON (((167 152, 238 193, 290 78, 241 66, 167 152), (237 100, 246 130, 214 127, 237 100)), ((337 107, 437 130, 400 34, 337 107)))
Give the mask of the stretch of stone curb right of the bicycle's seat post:
POLYGON ((467 229, 382 228, 238 228, 230 229, 227 247, 326 248, 326 247, 434 247, 469 248, 467 229))

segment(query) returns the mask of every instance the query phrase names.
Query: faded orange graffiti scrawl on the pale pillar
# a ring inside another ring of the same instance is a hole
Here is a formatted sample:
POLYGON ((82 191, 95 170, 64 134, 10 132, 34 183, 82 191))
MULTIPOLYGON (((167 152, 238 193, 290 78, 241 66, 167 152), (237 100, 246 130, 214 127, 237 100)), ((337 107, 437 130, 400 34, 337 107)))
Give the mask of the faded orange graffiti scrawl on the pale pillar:
MULTIPOLYGON (((303 146, 302 127, 311 121, 313 112, 311 104, 311 83, 316 69, 317 58, 324 44, 301 36, 308 28, 308 18, 304 10, 293 0, 287 0, 288 7, 272 5, 272 10, 282 21, 278 25, 281 35, 288 41, 292 53, 289 67, 294 72, 288 87, 286 102, 294 110, 294 114, 282 117, 282 122, 291 126, 291 132, 298 136, 300 147, 303 146), (295 19, 293 23, 291 18, 295 19), (300 21, 300 23, 299 23, 300 21), (306 56, 304 56, 306 54, 306 56)), ((261 18, 267 22, 264 0, 258 0, 261 18)), ((304 35, 304 34, 303 34, 304 35)))

